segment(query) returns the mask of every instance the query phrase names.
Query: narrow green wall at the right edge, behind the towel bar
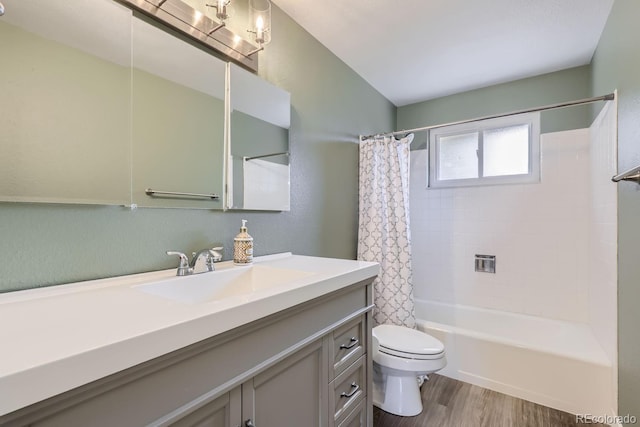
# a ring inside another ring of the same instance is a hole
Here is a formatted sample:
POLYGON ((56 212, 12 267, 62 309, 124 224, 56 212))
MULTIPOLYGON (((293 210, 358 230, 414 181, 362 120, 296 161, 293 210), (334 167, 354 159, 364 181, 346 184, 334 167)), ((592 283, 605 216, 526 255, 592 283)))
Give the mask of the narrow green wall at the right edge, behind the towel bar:
MULTIPOLYGON (((640 164, 640 2, 615 0, 593 58, 593 92, 618 89, 618 170, 640 164)), ((620 415, 640 417, 640 187, 618 184, 620 415)))

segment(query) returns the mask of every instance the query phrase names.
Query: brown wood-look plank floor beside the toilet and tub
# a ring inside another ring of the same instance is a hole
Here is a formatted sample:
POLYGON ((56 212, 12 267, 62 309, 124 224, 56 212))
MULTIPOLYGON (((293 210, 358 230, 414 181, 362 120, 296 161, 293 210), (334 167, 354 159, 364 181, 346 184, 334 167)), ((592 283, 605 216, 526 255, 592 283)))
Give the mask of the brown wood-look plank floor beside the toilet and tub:
MULTIPOLYGON (((398 417, 373 408, 374 427, 570 427, 575 415, 432 374, 422 386, 424 409, 398 417)), ((603 424, 590 424, 602 426, 603 424)))

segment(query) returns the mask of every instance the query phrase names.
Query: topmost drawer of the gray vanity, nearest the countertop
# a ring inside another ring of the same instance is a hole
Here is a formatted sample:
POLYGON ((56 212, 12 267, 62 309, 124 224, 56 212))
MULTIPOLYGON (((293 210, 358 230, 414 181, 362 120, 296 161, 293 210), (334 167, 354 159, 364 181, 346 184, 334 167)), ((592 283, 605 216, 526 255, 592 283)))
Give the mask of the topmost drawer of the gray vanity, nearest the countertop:
POLYGON ((364 316, 333 331, 330 349, 333 355, 332 379, 365 353, 366 337, 364 316))

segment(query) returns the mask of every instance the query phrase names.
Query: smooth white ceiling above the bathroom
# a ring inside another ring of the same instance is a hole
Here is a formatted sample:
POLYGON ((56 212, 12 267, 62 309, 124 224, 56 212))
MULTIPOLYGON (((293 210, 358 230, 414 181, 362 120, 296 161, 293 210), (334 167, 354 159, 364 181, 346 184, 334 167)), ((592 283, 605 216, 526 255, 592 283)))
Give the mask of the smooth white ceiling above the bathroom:
POLYGON ((397 106, 585 65, 613 0, 273 0, 397 106))

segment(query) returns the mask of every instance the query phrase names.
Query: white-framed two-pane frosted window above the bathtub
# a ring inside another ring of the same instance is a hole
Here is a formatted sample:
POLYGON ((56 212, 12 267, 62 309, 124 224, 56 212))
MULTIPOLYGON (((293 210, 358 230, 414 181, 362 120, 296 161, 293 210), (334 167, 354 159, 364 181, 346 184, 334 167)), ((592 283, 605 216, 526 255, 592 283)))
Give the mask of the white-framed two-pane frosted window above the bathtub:
POLYGON ((431 130, 429 187, 540 180, 540 113, 431 130))

